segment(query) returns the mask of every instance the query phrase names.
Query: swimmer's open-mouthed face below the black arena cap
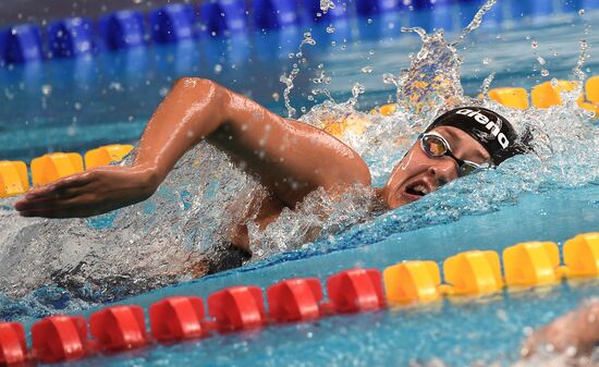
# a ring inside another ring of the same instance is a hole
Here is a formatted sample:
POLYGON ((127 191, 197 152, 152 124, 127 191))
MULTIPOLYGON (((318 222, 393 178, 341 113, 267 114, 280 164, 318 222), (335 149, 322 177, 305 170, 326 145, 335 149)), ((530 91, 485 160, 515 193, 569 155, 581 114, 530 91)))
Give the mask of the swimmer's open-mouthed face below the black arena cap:
MULTIPOLYGON (((462 160, 480 164, 490 160, 489 152, 482 145, 460 129, 439 126, 432 132, 443 136, 453 155, 462 160)), ((455 179, 457 162, 451 157, 429 157, 418 140, 393 168, 382 189, 382 197, 389 208, 395 209, 416 201, 455 179)))

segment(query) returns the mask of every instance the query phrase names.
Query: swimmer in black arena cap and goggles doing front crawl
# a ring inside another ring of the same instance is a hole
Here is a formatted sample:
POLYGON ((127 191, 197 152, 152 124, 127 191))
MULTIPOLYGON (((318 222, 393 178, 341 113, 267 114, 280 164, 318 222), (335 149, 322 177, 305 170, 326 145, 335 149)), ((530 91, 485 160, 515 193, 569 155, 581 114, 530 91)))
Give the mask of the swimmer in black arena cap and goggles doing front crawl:
MULTIPOLYGON (((100 167, 28 192, 15 204, 23 217, 84 218, 150 197, 176 161, 206 140, 256 176, 268 195, 254 219, 260 229, 322 187, 339 198, 370 186, 365 161, 332 135, 279 117, 211 81, 184 77, 157 108, 131 167, 100 167)), ((513 126, 498 113, 464 107, 437 118, 375 188, 389 209, 418 200, 442 185, 524 152, 513 126)), ((230 243, 250 254, 245 222, 230 243)))

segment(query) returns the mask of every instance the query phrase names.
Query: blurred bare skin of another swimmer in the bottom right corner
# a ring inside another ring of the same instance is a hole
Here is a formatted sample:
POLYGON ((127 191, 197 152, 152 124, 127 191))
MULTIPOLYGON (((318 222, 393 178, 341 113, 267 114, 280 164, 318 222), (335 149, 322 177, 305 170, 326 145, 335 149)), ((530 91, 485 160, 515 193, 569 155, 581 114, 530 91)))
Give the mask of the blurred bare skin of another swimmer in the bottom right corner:
POLYGON ((523 354, 529 356, 545 347, 548 352, 566 352, 572 356, 589 355, 598 342, 599 301, 594 299, 535 331, 526 341, 523 354))

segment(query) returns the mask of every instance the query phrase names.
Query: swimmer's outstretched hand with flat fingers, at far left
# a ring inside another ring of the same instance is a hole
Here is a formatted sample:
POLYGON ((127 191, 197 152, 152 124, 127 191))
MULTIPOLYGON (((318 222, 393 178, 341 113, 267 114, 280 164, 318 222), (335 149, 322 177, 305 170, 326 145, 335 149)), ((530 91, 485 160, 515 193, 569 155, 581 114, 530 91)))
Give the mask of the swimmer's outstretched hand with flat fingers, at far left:
POLYGON ((143 201, 158 187, 143 167, 99 167, 29 191, 15 203, 23 217, 86 218, 143 201))

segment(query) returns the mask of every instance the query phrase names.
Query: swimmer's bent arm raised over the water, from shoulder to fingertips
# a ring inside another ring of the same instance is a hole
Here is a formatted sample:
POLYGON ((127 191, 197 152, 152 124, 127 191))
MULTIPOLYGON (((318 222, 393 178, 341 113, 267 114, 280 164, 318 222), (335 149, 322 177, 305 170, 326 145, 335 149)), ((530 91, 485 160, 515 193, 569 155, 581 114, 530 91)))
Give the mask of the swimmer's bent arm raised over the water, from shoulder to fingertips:
POLYGON ((186 77, 151 117, 132 167, 101 167, 29 192, 15 204, 26 217, 89 217, 142 201, 203 139, 255 174, 282 203, 322 186, 369 184, 359 156, 331 135, 285 120, 213 82, 186 77))

